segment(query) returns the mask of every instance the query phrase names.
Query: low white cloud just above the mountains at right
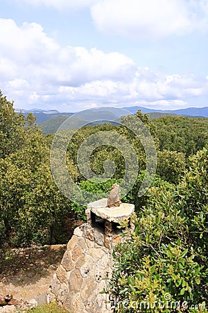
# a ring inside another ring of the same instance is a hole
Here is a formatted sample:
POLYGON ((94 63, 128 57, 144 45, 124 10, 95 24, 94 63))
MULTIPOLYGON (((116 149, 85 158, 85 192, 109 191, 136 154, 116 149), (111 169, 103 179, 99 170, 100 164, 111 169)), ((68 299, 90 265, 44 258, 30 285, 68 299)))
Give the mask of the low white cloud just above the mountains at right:
POLYGON ((60 87, 59 93, 69 103, 167 106, 170 109, 187 106, 186 97, 198 97, 207 94, 206 81, 195 81, 191 76, 166 75, 152 73, 148 69, 139 69, 132 81, 92 81, 79 87, 60 87), (146 79, 148 77, 148 79, 146 79), (174 82, 174 83, 173 83, 174 82), (195 85, 196 83, 196 85, 195 85), (171 108, 172 106, 172 108, 171 108))

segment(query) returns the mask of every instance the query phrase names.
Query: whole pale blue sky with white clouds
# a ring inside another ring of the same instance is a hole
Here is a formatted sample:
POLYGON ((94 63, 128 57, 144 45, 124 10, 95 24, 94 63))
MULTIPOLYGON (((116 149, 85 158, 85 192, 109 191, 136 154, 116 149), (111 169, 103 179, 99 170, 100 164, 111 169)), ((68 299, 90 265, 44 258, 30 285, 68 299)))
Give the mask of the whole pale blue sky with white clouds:
POLYGON ((15 107, 208 106, 208 0, 0 0, 15 107))

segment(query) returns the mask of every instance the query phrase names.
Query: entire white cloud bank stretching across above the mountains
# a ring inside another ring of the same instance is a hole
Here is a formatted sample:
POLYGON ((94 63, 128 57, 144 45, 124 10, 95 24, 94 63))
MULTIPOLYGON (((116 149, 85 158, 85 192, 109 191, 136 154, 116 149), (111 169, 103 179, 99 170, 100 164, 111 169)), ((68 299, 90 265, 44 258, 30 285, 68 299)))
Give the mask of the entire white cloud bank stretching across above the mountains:
MULTIPOLYGON (((207 77, 140 68, 118 52, 61 47, 36 23, 0 19, 0 86, 15 107, 78 111, 100 105, 187 106, 208 95, 207 77)), ((171 107, 172 106, 172 107, 171 107)))

